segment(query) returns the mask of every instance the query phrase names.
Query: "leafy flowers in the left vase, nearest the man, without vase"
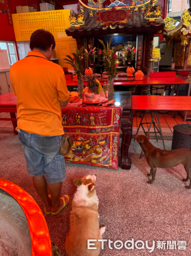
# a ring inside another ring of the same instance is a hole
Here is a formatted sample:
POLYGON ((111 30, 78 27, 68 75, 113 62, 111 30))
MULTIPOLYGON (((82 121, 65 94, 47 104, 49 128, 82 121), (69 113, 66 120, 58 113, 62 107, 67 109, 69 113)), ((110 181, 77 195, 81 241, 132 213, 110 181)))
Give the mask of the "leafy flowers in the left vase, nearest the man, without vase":
POLYGON ((67 64, 72 65, 74 69, 74 73, 77 75, 77 79, 80 79, 80 80, 81 80, 81 74, 83 72, 83 65, 82 65, 82 59, 84 55, 84 53, 82 53, 83 50, 84 50, 84 46, 82 46, 80 50, 78 50, 76 47, 76 53, 72 53, 73 58, 67 55, 67 59, 64 59, 67 61, 66 62, 67 64))

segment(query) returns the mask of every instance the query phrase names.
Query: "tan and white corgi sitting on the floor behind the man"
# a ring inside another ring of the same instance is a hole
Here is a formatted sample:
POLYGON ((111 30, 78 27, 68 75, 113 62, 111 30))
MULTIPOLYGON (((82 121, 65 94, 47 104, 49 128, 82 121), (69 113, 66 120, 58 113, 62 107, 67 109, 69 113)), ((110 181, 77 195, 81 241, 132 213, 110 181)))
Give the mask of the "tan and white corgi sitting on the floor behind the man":
POLYGON ((99 229, 98 204, 95 190, 96 175, 87 175, 75 179, 77 191, 70 212, 70 227, 65 241, 65 251, 68 256, 98 256, 101 249, 102 234, 105 226, 99 229), (88 240, 97 240, 97 249, 88 249, 88 240))

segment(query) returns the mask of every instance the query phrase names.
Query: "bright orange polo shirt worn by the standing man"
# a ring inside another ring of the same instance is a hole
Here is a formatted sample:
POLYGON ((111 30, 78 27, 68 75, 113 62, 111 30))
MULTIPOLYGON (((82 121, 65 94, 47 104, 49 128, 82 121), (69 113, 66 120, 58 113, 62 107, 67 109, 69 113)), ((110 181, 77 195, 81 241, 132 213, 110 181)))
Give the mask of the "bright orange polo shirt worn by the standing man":
POLYGON ((69 99, 63 69, 38 52, 29 52, 10 69, 18 128, 44 136, 64 134, 59 101, 69 99))

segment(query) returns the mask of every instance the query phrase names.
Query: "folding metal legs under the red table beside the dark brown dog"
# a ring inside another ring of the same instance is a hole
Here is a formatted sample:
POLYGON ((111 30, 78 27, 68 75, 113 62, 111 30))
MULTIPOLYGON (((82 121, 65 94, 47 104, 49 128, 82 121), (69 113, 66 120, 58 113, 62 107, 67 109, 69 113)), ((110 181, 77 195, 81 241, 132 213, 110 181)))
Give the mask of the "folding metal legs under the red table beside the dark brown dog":
MULTIPOLYGON (((145 113, 146 113, 146 110, 144 110, 143 117, 144 117, 145 113)), ((151 118, 152 118, 152 119, 151 119, 151 122, 150 122, 150 123, 142 123, 143 117, 142 117, 142 119, 141 119, 141 121, 140 121, 140 123, 139 123, 139 127, 138 127, 138 130, 137 130, 136 134, 138 134, 139 129, 140 129, 140 126, 142 126, 145 135, 147 135, 148 133, 155 133, 156 141, 158 141, 157 133, 159 133, 160 136, 161 136, 161 139, 162 139, 162 141, 163 141, 163 147, 164 147, 164 150, 165 150, 164 138, 163 138, 163 133, 162 133, 162 130, 161 130, 160 121, 159 121, 159 115, 158 115, 157 110, 154 110, 153 114, 152 114, 152 111, 151 111, 151 118), (159 129, 158 129, 158 127, 155 125, 155 122, 153 122, 154 117, 155 117, 155 114, 156 114, 156 117, 157 117, 157 122, 159 123, 159 129), (150 126, 148 127, 148 131, 146 132, 146 130, 144 130, 143 125, 148 125, 148 124, 150 124, 150 126), (154 131, 151 131, 151 132, 150 132, 151 125, 153 125, 154 131)), ((134 139, 134 141, 135 141, 135 139, 134 139)), ((143 150, 142 150, 142 152, 141 152, 141 154, 140 154, 140 158, 142 158, 142 154, 143 154, 143 150)))

